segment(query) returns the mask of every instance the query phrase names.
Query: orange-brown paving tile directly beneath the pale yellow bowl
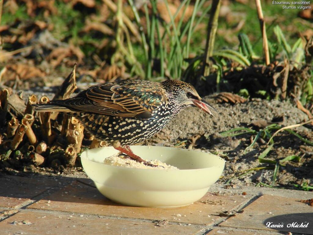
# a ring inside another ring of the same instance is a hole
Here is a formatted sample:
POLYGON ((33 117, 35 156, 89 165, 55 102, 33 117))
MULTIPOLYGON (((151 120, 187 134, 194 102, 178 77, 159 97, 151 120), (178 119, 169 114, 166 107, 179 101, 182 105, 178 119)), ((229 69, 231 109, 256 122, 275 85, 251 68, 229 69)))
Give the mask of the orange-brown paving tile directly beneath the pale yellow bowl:
POLYGON ((75 182, 28 206, 28 208, 151 220, 167 219, 175 222, 209 225, 216 219, 221 218, 214 214, 231 210, 247 200, 249 200, 248 196, 214 196, 207 193, 199 201, 184 207, 145 208, 124 206, 106 199, 94 187, 75 182), (205 200, 221 200, 225 205, 207 205, 200 202, 205 200), (178 217, 177 214, 181 216, 178 217))

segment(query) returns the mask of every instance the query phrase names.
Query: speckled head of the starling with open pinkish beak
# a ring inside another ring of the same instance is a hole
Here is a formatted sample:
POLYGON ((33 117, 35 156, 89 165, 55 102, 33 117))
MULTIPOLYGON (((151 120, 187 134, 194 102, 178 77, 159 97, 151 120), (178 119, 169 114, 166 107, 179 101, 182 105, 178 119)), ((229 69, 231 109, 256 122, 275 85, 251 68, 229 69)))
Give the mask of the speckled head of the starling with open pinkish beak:
POLYGON ((182 109, 188 107, 198 107, 204 112, 210 114, 212 117, 214 117, 214 115, 212 114, 210 108, 215 112, 218 112, 212 105, 203 100, 199 96, 196 89, 189 83, 178 80, 167 80, 163 81, 162 84, 168 95, 172 96, 182 109))

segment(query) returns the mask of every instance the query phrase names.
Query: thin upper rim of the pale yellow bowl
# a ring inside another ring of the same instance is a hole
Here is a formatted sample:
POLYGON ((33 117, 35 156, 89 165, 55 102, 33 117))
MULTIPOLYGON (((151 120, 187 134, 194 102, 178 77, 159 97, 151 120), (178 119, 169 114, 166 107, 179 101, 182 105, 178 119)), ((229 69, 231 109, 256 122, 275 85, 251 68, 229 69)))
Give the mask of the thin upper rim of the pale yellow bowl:
MULTIPOLYGON (((87 149, 85 150, 84 152, 82 152, 80 154, 80 159, 81 161, 83 159, 85 159, 86 161, 89 161, 89 162, 92 162, 93 164, 99 164, 103 167, 114 167, 115 169, 120 169, 120 170, 148 170, 148 171, 153 171, 153 172, 156 172, 156 171, 162 171, 162 172, 165 172, 165 171, 176 171, 176 172, 182 172, 182 171, 200 171, 200 170, 207 170, 209 168, 213 168, 213 167, 223 167, 223 169, 225 168, 225 163, 226 163, 226 160, 215 155, 215 154, 212 154, 212 153, 208 153, 208 152, 204 152, 204 151, 199 151, 199 150, 193 150, 193 149, 182 149, 182 148, 175 148, 175 147, 166 147, 166 146, 153 146, 153 145, 131 145, 131 146, 136 146, 136 147, 141 147, 141 146, 145 146, 145 147, 157 147, 157 148, 174 148, 174 149, 177 149, 177 150, 183 150, 183 151, 196 151, 196 152, 201 152, 201 153, 205 153, 205 154, 210 154, 212 155, 213 157, 215 158, 218 158, 219 160, 221 160, 221 162, 223 162, 223 165, 213 165, 213 166, 210 166, 210 167, 204 167, 204 168, 196 168, 196 169, 149 169, 149 168, 136 168, 136 167, 125 167, 125 166, 112 166, 112 165, 108 165, 108 164, 104 164, 104 163, 101 163, 101 162, 96 162, 96 161, 93 161, 93 160, 90 160, 87 158, 87 152, 88 151, 91 151, 93 149, 87 149)), ((101 149, 105 149, 105 148, 110 148, 112 146, 104 146, 104 147, 100 147, 101 149)), ((96 149, 100 149, 100 148, 96 148, 96 149)), ((105 158, 108 158, 110 156, 107 156, 105 158)), ((104 159, 105 159, 104 158, 104 159)), ((104 160, 103 159, 103 160, 104 160)), ((83 165, 83 164, 82 164, 83 165)), ((84 167, 83 167, 84 168, 84 167)), ((113 168, 113 169, 114 169, 113 168)))

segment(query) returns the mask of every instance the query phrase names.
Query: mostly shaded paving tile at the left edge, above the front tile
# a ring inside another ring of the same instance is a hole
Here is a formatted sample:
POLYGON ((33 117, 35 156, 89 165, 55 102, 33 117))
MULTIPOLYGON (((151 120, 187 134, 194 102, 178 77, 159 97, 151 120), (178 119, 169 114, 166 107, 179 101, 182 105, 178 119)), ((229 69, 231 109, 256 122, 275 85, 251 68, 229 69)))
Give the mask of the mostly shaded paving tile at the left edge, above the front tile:
POLYGON ((0 207, 15 208, 21 203, 57 185, 53 179, 20 176, 0 177, 0 207))

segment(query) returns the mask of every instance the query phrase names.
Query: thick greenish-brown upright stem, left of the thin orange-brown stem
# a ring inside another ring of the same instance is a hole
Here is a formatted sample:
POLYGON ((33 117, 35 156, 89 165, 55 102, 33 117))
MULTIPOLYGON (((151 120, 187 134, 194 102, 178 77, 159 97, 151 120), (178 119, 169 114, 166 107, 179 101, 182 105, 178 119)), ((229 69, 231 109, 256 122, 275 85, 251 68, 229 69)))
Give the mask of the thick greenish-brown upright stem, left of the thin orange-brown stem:
POLYGON ((203 76, 209 76, 210 74, 210 68, 207 65, 210 62, 210 57, 212 57, 213 55, 214 41, 215 41, 216 30, 218 27, 218 14, 219 14, 220 6, 221 6, 220 0, 213 0, 210 19, 208 22, 207 42, 205 45, 205 52, 204 52, 203 76))

